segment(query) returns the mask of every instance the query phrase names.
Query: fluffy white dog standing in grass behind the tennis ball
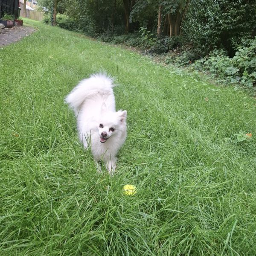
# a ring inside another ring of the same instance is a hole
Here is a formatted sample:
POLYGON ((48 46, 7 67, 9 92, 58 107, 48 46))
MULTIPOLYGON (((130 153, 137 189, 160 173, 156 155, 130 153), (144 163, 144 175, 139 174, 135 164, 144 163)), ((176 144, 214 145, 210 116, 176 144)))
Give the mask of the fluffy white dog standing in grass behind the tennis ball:
POLYGON ((84 148, 91 148, 100 171, 105 163, 110 175, 116 168, 116 153, 126 138, 127 112, 116 112, 113 79, 96 74, 82 80, 66 97, 77 116, 77 128, 84 148))

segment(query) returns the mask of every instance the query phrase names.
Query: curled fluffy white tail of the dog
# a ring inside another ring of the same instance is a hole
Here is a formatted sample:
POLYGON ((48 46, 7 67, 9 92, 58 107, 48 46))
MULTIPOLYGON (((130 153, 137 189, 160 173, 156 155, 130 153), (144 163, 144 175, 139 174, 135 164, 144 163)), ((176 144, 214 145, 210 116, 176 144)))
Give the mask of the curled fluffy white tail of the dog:
POLYGON ((70 108, 73 108, 77 114, 84 100, 96 93, 108 94, 112 92, 113 78, 104 73, 90 76, 88 79, 80 81, 80 83, 65 98, 70 108))

